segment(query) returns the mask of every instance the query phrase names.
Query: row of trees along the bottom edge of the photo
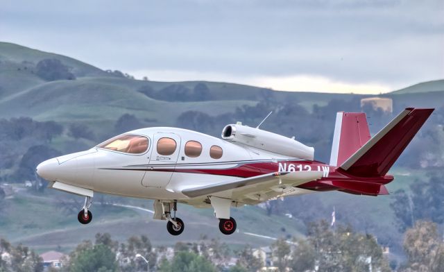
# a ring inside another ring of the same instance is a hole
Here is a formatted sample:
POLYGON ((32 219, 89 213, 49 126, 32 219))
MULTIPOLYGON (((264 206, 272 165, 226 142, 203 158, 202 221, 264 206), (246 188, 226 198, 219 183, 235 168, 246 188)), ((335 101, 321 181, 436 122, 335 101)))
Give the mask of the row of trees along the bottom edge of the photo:
MULTIPOLYGON (((350 226, 332 228, 326 221, 311 223, 305 238, 278 239, 270 245, 272 265, 278 271, 431 271, 444 269, 444 242, 436 223, 417 221, 404 233, 407 259, 389 263, 377 238, 350 226)), ((130 237, 119 243, 108 233, 78 244, 54 271, 259 271, 266 266, 251 246, 232 249, 219 239, 202 237, 194 243, 178 242, 172 255, 154 248, 148 237, 130 237), (145 260, 142 257, 145 258, 145 260), (237 261, 228 265, 231 257, 237 261)), ((43 271, 35 251, 0 239, 0 271, 43 271)), ((50 270, 52 271, 52 270, 50 270)))

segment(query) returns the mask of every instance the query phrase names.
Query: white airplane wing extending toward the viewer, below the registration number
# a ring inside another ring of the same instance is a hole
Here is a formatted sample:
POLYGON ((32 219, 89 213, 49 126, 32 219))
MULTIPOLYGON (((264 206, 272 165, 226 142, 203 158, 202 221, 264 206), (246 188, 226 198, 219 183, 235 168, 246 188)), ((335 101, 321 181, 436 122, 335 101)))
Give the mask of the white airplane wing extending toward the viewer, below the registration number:
POLYGON ((247 204, 257 204, 291 192, 306 182, 317 180, 323 176, 323 171, 275 172, 252 178, 240 178, 229 182, 213 185, 192 187, 182 190, 189 198, 199 198, 228 193, 233 201, 247 204))

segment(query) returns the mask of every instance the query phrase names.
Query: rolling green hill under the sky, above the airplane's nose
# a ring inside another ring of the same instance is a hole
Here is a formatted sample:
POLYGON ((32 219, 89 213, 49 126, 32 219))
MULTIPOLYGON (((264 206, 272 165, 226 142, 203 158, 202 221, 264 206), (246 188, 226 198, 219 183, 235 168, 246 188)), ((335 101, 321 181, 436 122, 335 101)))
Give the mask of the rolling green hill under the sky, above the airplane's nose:
POLYGON ((66 56, 0 42, 0 117, 28 116, 38 121, 52 120, 62 124, 82 121, 99 127, 99 124, 109 124, 121 114, 129 113, 140 119, 155 119, 150 126, 172 126, 176 118, 188 110, 216 116, 234 112, 242 105, 256 105, 270 95, 278 103, 300 102, 309 111, 312 105, 326 105, 333 98, 350 100, 355 97, 352 94, 275 92, 233 83, 134 80, 114 76, 66 56), (52 58, 71 67, 76 80, 47 81, 37 76, 35 64, 52 58), (194 90, 199 83, 207 86, 210 99, 161 101, 138 92, 141 87, 162 92, 173 85, 194 90))

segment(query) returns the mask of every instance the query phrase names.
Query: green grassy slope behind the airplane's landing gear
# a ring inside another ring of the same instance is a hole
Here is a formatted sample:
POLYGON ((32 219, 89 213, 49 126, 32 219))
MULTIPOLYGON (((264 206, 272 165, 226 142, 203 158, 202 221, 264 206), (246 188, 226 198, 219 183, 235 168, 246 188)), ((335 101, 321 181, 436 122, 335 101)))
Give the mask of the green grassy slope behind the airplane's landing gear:
MULTIPOLYGON (((19 185, 15 187, 19 189, 19 185)), ((100 194, 95 199, 101 199, 100 194)), ((107 202, 135 205, 153 210, 152 202, 133 199, 105 197, 107 202)), ((264 246, 271 239, 248 235, 271 237, 299 237, 302 234, 302 224, 286 216, 266 216, 259 207, 242 207, 233 209, 233 216, 239 224, 239 232, 226 237, 219 232, 218 221, 210 209, 194 209, 180 205, 179 216, 185 221, 185 231, 180 237, 171 237, 166 230, 166 221, 152 219, 152 214, 127 207, 101 205, 95 201, 92 206, 94 219, 87 226, 77 221, 77 210, 80 210, 83 199, 79 196, 49 191, 44 195, 28 194, 23 189, 9 198, 0 219, 0 237, 8 237, 14 243, 23 243, 37 250, 49 250, 61 247, 71 250, 85 239, 93 239, 97 232, 109 232, 114 239, 124 241, 132 235, 147 235, 156 246, 173 246, 177 241, 198 241, 201 235, 219 237, 232 246, 241 247, 244 244, 264 246), (72 202, 75 201, 75 202, 72 202), (67 204, 68 203, 68 204, 67 204), (70 203, 70 204, 69 204, 70 203), (65 207, 74 207, 67 210, 65 207), (16 216, 19 214, 19 216, 16 216), (122 226, 125 226, 122 228, 122 226), (285 230, 282 231, 282 226, 285 230)))

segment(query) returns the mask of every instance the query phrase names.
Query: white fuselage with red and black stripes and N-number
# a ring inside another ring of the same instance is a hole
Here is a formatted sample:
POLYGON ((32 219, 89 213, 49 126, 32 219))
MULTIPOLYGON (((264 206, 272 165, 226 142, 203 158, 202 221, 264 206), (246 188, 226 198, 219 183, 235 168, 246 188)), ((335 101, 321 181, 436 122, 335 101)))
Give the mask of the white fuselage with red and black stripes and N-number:
MULTIPOLYGON (((96 146, 87 151, 51 159, 40 167, 51 167, 50 180, 94 192, 185 202, 189 197, 182 194, 182 189, 273 172, 323 171, 320 180, 295 187, 292 194, 336 190, 338 188, 334 182, 368 181, 368 178, 364 180, 348 176, 338 171, 337 167, 323 162, 290 158, 191 130, 143 128, 126 134, 147 137, 148 149, 144 153, 129 154, 96 146), (163 137, 176 141, 177 147, 173 154, 160 155, 157 152, 156 143, 163 137), (202 144, 202 152, 196 158, 185 154, 184 146, 189 141, 202 144), (211 158, 211 146, 221 147, 221 158, 211 158)), ((44 169, 40 169, 42 172, 44 169)), ((380 184, 391 180, 391 176, 377 178, 380 184)))

